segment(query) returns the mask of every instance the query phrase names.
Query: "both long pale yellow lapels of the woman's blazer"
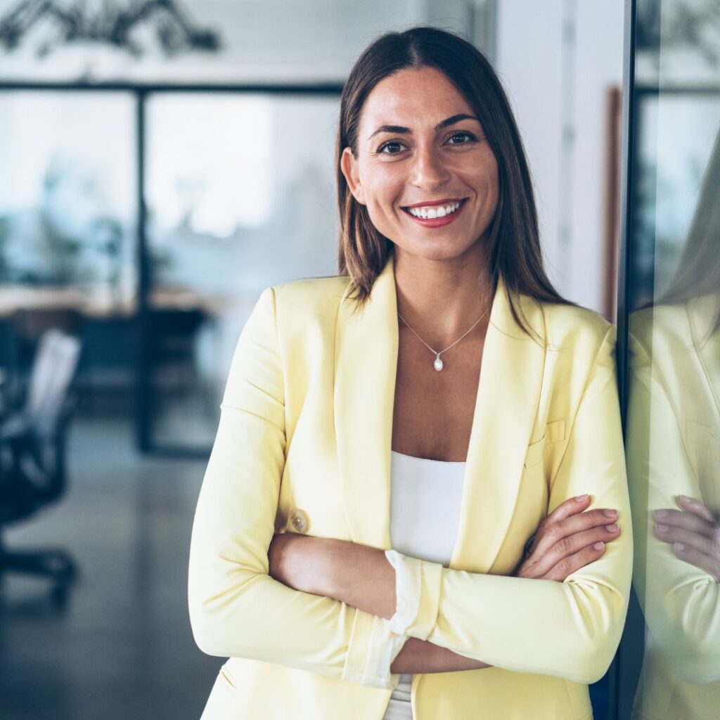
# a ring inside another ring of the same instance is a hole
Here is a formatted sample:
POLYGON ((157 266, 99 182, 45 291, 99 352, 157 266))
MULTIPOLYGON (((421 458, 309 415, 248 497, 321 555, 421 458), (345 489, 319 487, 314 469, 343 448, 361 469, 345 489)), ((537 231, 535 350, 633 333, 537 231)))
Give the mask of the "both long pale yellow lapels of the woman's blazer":
MULTIPOLYGON (((354 312, 347 292, 336 325, 333 398, 346 518, 352 541, 389 549, 398 348, 394 256, 362 310, 354 312)), ((522 307, 544 338, 539 305, 523 297, 522 307)), ((500 278, 482 355, 450 567, 487 572, 503 544, 535 424, 544 357, 544 348, 513 320, 500 278)))

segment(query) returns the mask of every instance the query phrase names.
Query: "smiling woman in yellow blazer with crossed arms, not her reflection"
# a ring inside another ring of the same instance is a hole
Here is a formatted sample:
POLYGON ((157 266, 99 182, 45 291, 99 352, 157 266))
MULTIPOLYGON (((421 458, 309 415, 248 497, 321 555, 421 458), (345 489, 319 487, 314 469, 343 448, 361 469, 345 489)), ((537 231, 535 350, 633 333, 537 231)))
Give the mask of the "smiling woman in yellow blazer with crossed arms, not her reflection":
POLYGON ((469 43, 380 37, 337 150, 342 275, 261 295, 199 497, 203 718, 590 718, 631 575, 613 327, 546 278, 469 43))

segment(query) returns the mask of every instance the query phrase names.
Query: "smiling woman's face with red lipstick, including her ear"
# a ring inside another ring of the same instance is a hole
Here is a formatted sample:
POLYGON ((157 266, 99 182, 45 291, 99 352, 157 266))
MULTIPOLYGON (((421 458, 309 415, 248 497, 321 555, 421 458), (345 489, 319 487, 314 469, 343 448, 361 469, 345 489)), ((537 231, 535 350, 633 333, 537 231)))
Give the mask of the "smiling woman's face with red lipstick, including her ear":
POLYGON ((498 205, 498 163, 480 120, 436 68, 405 68, 372 89, 357 156, 345 148, 341 169, 375 228, 428 259, 465 253, 498 205))

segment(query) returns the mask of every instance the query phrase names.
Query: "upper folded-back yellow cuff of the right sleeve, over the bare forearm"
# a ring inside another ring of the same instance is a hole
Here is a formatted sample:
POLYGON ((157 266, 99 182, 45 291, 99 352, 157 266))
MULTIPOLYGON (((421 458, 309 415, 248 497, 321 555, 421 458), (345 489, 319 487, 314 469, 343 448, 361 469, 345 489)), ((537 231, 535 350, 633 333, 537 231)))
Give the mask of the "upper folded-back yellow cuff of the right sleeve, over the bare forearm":
POLYGON ((395 615, 382 620, 388 630, 427 640, 435 628, 440 608, 443 565, 386 550, 395 568, 395 615))

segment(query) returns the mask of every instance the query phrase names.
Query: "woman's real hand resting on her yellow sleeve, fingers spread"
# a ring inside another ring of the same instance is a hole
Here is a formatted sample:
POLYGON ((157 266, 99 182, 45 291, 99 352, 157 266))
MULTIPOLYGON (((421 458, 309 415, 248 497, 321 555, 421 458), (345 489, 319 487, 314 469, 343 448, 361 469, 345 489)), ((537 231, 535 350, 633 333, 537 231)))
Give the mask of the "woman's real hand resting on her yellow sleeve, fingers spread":
POLYGON ((606 542, 620 536, 616 510, 588 510, 589 495, 570 498, 540 523, 530 552, 513 573, 515 577, 562 582, 568 575, 597 560, 606 542))

